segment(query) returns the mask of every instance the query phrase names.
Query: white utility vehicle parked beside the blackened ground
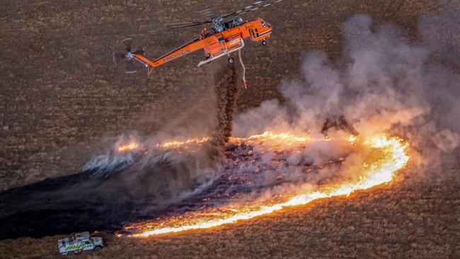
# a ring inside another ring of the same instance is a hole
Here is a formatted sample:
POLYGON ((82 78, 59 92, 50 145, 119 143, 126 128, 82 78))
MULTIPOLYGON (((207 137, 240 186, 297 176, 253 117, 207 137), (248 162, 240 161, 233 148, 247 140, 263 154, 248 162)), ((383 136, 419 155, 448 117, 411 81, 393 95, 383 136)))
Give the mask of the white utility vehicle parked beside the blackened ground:
POLYGON ((100 251, 103 246, 102 238, 90 237, 88 231, 77 233, 71 238, 62 238, 57 241, 59 253, 62 255, 74 255, 85 251, 100 251))

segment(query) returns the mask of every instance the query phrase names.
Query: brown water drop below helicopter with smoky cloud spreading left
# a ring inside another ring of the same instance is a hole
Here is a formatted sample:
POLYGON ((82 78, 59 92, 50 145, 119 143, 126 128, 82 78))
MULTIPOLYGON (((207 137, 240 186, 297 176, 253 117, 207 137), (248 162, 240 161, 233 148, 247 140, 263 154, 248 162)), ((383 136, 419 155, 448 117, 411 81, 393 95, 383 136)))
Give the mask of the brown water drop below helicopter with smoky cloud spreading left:
MULTIPOLYGON (((126 199, 155 196, 165 205, 183 200, 212 184, 222 171, 222 151, 231 134, 239 88, 235 67, 217 67, 213 72, 214 95, 205 96, 206 101, 171 118, 154 135, 141 137, 131 132, 113 139, 114 144, 105 154, 94 156, 81 171, 98 177, 116 177, 117 180, 105 180, 104 185, 113 182, 117 186, 110 188, 122 189, 126 199), (212 139, 209 142, 190 143, 180 149, 158 146, 209 136, 212 139), (117 151, 126 144, 135 146, 117 151)), ((103 189, 98 187, 98 190, 103 189)), ((118 196, 120 198, 120 193, 118 196)))

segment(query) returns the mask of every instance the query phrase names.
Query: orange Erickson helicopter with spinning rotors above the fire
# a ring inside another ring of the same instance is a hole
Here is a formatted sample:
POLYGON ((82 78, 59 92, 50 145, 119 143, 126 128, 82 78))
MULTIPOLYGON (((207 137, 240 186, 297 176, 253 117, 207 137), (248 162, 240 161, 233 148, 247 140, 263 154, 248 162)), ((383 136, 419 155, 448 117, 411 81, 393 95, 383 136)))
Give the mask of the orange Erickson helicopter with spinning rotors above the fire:
MULTIPOLYGON (((275 4, 280 1, 282 0, 256 1, 239 11, 235 11, 224 16, 214 16, 209 21, 180 23, 180 25, 176 25, 175 27, 161 29, 172 30, 177 28, 188 28, 205 23, 214 23, 214 28, 210 30, 207 28, 203 29, 202 33, 197 38, 190 40, 190 42, 187 42, 175 50, 163 54, 161 57, 154 60, 144 57, 144 50, 131 52, 130 47, 127 48, 125 59, 127 62, 136 60, 139 64, 142 64, 148 69, 149 75, 151 74, 151 68, 153 67, 161 66, 162 64, 171 62, 174 59, 178 59, 179 57, 183 57, 202 49, 205 50, 206 58, 198 64, 198 67, 225 55, 228 57, 228 63, 234 64, 234 59, 230 57, 230 53, 241 50, 244 47, 244 40, 246 39, 253 40, 254 42, 260 42, 262 45, 267 45, 267 40, 270 38, 270 35, 272 35, 272 26, 270 23, 265 22, 262 18, 243 22, 241 18, 231 17, 240 16, 243 13, 255 11, 258 8, 270 6, 271 4, 275 4)), ((155 32, 161 30, 155 30, 155 32)), ((244 76, 243 85, 244 88, 246 88, 247 84, 244 76)))

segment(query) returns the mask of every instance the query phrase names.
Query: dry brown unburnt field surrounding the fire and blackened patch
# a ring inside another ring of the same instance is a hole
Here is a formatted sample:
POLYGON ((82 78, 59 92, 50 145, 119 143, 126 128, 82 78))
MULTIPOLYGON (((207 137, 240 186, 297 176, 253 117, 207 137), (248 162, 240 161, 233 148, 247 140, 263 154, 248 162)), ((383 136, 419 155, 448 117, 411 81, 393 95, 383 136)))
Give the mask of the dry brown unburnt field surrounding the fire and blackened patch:
MULTIPOLYGON (((439 2, 284 0, 243 16, 265 18, 275 33, 268 47, 248 44, 243 50, 249 90, 239 98, 238 110, 280 98, 277 86, 299 76, 304 52, 321 50, 338 59, 343 22, 353 14, 396 23, 416 40, 418 18, 439 11, 439 2)), ((227 13, 247 3, 2 1, 0 189, 79 171, 102 149, 98 143, 104 137, 130 130, 154 134, 171 118, 206 102, 214 70, 196 67, 202 53, 171 62, 147 78, 144 71, 122 73, 112 63, 113 50, 131 36, 155 57, 199 29, 158 35, 149 30, 193 20, 202 8, 227 13)), ((407 176, 348 198, 319 200, 213 231, 140 241, 106 235, 108 247, 86 256, 457 258, 459 167, 444 169, 433 172, 435 177, 407 176)), ((0 254, 55 258, 58 237, 1 241, 0 254)))

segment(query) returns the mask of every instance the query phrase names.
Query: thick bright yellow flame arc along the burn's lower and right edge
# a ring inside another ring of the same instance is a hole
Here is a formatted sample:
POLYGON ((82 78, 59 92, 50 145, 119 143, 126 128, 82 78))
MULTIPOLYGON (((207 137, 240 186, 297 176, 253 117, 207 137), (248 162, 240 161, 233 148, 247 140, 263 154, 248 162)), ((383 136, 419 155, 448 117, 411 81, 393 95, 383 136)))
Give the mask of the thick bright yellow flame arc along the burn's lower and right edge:
MULTIPOLYGON (((270 132, 264 132, 264 134, 256 135, 252 138, 261 139, 264 137, 270 137, 270 132)), ((284 135, 284 137, 289 137, 289 135, 284 135)), ((251 137, 249 139, 251 139, 251 137)), ((238 141, 238 139, 233 140, 238 141)), ((356 137, 349 137, 347 139, 348 142, 355 142, 356 140, 356 137)), ((258 209, 254 209, 249 212, 237 213, 233 216, 225 217, 223 219, 212 219, 208 221, 197 222, 195 224, 185 223, 182 226, 151 229, 139 234, 133 234, 132 236, 147 237, 159 234, 188 231, 192 229, 209 229, 224 224, 232 224, 236 221, 241 221, 244 219, 252 219, 254 217, 259 217, 264 214, 271 214, 272 212, 279 211, 284 207, 306 205, 309 202, 321 198, 350 195, 352 192, 355 192, 356 190, 365 190, 368 188, 372 188, 376 185, 389 183, 393 179, 394 175, 396 175, 396 171, 405 167, 406 163, 409 160, 409 156, 408 154, 406 154, 406 148, 408 144, 404 143, 401 139, 389 139, 386 136, 376 136, 365 141, 364 145, 369 146, 369 148, 383 149, 384 154, 386 156, 385 159, 379 159, 376 163, 372 165, 369 165, 367 167, 363 166, 364 173, 362 173, 360 180, 357 183, 336 183, 335 185, 328 185, 315 192, 300 193, 298 195, 295 195, 294 197, 291 197, 286 202, 282 202, 275 205, 262 206, 258 209)))

